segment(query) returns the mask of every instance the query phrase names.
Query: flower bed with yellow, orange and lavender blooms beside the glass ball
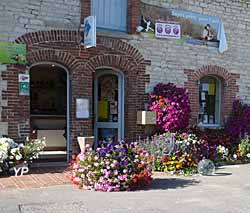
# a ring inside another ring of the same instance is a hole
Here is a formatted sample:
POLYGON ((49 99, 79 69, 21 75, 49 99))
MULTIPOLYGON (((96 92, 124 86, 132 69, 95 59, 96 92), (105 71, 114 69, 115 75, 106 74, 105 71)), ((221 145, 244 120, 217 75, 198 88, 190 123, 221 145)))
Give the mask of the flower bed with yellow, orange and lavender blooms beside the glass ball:
POLYGON ((141 146, 150 153, 154 171, 190 175, 197 169, 198 144, 195 135, 167 132, 147 139, 141 146))

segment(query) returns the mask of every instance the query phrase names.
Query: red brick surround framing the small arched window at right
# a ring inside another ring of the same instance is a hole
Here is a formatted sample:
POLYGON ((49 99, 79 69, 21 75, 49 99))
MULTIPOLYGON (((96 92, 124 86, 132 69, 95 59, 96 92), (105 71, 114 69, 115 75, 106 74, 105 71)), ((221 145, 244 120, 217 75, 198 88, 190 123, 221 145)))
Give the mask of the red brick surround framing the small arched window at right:
POLYGON ((217 76, 222 80, 222 105, 221 105, 221 121, 222 125, 227 121, 228 116, 232 110, 233 101, 237 97, 239 92, 239 86, 237 85, 238 74, 230 73, 225 68, 217 65, 204 65, 198 70, 184 70, 187 75, 187 82, 185 82, 185 88, 189 92, 189 99, 191 105, 191 119, 190 123, 196 125, 198 121, 199 112, 199 85, 198 81, 207 76, 217 76))

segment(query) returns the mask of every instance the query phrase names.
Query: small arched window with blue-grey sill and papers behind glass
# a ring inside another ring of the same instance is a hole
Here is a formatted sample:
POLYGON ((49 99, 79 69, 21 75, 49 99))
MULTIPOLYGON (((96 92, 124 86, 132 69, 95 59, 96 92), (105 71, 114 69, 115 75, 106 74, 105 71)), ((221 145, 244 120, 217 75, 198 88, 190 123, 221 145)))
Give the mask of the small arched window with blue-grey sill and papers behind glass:
POLYGON ((219 127, 221 124, 221 81, 205 76, 199 82, 199 125, 219 127))

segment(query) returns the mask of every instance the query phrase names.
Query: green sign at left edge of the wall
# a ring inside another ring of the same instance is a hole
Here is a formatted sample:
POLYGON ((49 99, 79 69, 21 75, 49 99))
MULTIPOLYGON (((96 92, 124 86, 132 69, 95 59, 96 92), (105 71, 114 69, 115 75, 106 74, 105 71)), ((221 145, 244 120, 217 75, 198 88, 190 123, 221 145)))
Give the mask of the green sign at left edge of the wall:
POLYGON ((25 65, 26 56, 26 44, 0 41, 0 63, 25 65))

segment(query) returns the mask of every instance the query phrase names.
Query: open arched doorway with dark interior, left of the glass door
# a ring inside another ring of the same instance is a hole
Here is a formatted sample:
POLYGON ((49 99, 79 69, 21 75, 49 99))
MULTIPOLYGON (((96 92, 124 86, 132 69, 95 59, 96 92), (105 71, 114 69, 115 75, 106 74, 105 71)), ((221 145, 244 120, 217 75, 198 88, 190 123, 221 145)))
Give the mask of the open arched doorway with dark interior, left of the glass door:
POLYGON ((56 63, 30 68, 30 127, 32 136, 46 137, 39 161, 68 161, 69 77, 56 63))

